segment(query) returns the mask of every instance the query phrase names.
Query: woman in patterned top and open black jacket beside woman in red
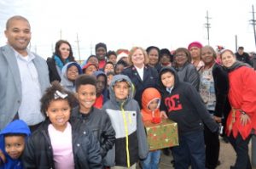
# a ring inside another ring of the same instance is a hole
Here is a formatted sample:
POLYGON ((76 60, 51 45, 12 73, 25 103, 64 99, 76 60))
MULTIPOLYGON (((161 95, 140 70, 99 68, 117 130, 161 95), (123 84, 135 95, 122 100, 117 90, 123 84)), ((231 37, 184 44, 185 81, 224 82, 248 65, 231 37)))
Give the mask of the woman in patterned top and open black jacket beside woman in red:
MULTIPOLYGON (((229 78, 221 65, 215 62, 217 54, 210 46, 201 48, 201 59, 204 66, 199 71, 199 91, 208 112, 212 118, 220 123, 228 103, 229 78)), ((206 144, 206 166, 215 169, 218 166, 219 139, 218 132, 211 132, 205 125, 204 138, 206 144)))

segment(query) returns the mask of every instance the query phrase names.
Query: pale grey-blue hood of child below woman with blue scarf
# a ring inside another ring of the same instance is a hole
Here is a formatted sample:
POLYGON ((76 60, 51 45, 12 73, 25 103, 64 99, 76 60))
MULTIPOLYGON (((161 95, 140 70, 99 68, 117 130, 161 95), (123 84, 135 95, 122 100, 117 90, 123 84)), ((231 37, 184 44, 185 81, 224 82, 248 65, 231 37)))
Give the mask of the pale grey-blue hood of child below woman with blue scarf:
POLYGON ((67 69, 70 68, 72 65, 75 65, 78 68, 79 75, 82 74, 82 69, 81 69, 81 67, 78 63, 68 62, 66 65, 64 65, 64 67, 61 70, 61 84, 65 87, 67 87, 67 86, 72 86, 73 87, 73 82, 71 82, 67 79, 67 69))

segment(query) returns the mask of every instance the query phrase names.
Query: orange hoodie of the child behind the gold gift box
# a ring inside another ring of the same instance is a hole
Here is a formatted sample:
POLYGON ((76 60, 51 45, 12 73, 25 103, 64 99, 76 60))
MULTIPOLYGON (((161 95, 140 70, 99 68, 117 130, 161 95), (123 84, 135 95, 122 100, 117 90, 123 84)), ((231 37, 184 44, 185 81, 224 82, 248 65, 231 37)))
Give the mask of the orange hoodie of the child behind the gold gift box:
POLYGON ((161 96, 157 89, 149 87, 144 90, 142 96, 143 109, 141 110, 143 121, 152 121, 153 117, 160 118, 160 99, 161 96), (148 105, 155 99, 159 99, 157 108, 154 111, 149 110, 148 105))

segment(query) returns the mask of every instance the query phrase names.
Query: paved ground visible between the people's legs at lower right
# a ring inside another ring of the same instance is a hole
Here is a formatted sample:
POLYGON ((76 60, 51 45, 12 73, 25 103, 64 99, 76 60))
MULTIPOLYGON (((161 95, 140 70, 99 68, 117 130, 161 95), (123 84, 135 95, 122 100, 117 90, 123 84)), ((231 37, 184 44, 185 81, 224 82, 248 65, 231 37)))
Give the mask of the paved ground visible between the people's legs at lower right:
MULTIPOLYGON (((251 145, 249 146, 251 150, 251 145)), ((251 151, 249 153, 251 155, 251 151)), ((234 149, 231 147, 230 144, 224 143, 224 141, 221 139, 220 141, 220 157, 219 161, 221 162, 221 165, 217 167, 217 169, 230 169, 230 166, 235 163, 236 160, 236 154, 234 149)), ((171 165, 172 161, 172 155, 166 156, 161 155, 161 161, 160 161, 160 169, 170 169, 173 168, 171 165)), ((253 167, 253 169, 256 169, 256 167, 253 167)))

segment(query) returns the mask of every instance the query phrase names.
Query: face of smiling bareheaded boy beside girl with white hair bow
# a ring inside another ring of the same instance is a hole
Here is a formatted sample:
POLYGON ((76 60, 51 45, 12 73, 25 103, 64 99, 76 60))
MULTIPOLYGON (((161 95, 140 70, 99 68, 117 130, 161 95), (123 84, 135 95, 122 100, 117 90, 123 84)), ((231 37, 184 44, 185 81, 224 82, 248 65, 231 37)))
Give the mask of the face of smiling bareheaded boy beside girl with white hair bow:
POLYGON ((81 113, 87 113, 96 101, 96 87, 91 84, 81 85, 76 96, 81 113))

